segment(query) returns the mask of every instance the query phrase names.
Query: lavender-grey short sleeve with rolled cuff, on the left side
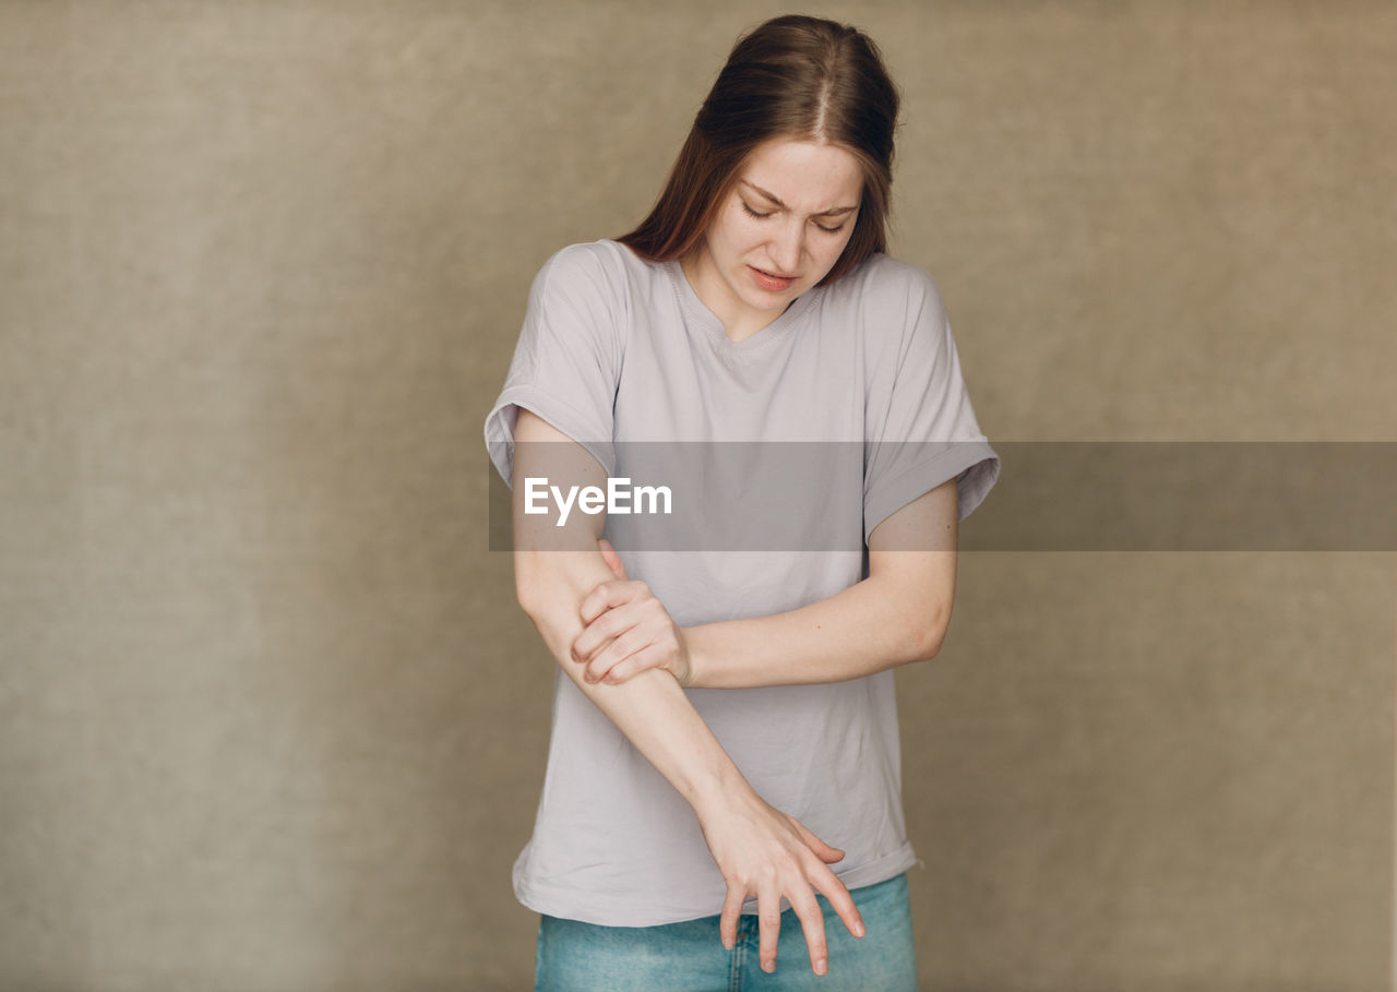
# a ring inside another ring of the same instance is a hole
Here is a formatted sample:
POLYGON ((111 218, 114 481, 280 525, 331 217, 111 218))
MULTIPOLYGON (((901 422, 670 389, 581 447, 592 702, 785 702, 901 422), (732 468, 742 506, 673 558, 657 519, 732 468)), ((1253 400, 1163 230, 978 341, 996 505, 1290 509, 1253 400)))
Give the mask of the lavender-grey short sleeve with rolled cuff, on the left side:
POLYGON ((514 428, 528 409, 615 474, 616 384, 624 352, 624 293, 599 243, 573 245, 534 277, 504 388, 485 418, 490 461, 513 483, 514 428))

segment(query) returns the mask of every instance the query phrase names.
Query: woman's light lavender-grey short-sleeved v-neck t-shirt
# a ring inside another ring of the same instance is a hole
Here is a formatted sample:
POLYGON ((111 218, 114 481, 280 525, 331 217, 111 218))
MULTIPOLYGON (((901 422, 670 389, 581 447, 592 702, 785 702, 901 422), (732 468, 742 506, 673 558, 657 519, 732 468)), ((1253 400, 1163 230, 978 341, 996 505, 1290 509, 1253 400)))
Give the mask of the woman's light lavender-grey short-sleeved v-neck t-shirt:
MULTIPOLYGON (((866 577, 862 544, 891 513, 954 478, 964 520, 999 476, 935 282, 884 254, 806 291, 733 342, 678 261, 644 261, 612 240, 569 246, 534 279, 504 390, 485 422, 507 483, 521 407, 587 447, 608 475, 626 471, 630 442, 740 450, 733 464, 761 450, 724 447, 736 442, 861 453, 792 510, 805 514, 802 530, 827 528, 841 535, 837 544, 852 527, 856 549, 623 549, 629 577, 648 583, 682 626, 831 597, 866 577)), ((750 496, 731 475, 704 476, 710 489, 700 496, 719 518, 740 516, 750 496)), ((608 518, 606 532, 622 520, 608 518)), ((856 889, 916 863, 902 819, 893 687, 887 671, 686 692, 753 788, 845 851, 831 868, 856 889)), ((536 912, 609 926, 715 915, 726 891, 692 808, 562 669, 543 792, 514 891, 536 912)), ((756 908, 749 898, 743 911, 756 908)))

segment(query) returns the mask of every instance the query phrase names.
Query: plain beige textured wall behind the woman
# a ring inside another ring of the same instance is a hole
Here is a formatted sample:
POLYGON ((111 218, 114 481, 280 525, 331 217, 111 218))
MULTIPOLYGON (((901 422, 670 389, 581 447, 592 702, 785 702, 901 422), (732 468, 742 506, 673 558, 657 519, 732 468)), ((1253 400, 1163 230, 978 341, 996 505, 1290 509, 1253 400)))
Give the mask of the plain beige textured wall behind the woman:
MULTIPOLYGON (((481 422, 780 11, 657 10, 0 3, 0 988, 528 985, 481 422)), ((992 439, 1397 440, 1391 3, 813 10, 992 439)), ((1390 989, 1393 563, 964 555, 898 676, 926 986, 1390 989)))

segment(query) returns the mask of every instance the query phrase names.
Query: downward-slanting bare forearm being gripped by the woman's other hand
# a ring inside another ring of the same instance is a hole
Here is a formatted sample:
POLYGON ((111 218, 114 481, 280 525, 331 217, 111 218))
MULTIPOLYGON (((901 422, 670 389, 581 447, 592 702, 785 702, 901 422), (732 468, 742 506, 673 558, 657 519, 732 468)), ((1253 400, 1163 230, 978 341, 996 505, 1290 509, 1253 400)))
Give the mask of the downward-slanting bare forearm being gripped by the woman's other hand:
POLYGON ((735 787, 742 774, 665 671, 650 669, 620 685, 585 682, 571 657, 583 632, 578 606, 598 583, 612 578, 597 552, 555 552, 517 559, 521 602, 569 679, 610 720, 641 754, 701 812, 735 787))

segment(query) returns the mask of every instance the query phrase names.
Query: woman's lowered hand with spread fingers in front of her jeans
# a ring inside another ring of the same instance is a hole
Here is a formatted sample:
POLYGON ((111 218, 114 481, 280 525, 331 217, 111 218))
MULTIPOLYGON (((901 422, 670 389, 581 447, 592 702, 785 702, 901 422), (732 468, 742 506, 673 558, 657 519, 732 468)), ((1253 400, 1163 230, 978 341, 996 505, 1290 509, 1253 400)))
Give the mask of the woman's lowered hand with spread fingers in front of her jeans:
POLYGON ((863 936, 863 918, 854 897, 826 863, 842 859, 844 851, 766 802, 750 785, 743 784, 717 805, 698 810, 698 824, 728 883, 718 925, 724 947, 731 950, 736 944, 742 904, 747 896, 756 896, 761 970, 775 971, 784 896, 805 931, 810 967, 823 975, 828 968, 824 914, 812 886, 830 900, 849 933, 863 936))

